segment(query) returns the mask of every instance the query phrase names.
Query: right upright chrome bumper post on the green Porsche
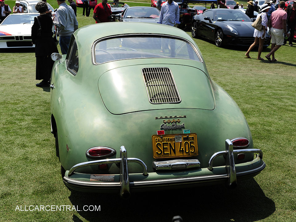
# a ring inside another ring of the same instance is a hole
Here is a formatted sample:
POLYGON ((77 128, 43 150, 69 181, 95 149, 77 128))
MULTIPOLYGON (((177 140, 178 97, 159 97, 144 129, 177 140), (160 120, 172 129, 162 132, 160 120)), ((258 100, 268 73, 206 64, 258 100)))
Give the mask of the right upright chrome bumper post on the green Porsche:
POLYGON ((225 140, 225 149, 227 152, 226 155, 226 168, 227 168, 227 174, 228 174, 228 186, 236 186, 236 169, 235 169, 235 163, 234 163, 234 157, 233 157, 233 144, 232 142, 227 139, 225 140))

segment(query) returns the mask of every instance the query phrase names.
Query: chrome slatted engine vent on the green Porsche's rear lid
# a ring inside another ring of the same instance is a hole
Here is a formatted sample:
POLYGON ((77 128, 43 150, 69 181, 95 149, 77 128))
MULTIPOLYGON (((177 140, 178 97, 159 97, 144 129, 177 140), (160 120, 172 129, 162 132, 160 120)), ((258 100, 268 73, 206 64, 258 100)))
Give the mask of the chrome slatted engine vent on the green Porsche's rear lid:
POLYGON ((142 74, 150 103, 181 102, 175 80, 169 68, 142 68, 142 74))

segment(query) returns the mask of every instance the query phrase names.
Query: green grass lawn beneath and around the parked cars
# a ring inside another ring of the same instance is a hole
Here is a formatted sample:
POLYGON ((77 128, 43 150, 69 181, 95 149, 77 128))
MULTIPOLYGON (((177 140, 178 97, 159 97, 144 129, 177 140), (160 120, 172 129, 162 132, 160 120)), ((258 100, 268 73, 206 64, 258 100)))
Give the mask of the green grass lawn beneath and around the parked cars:
MULTIPOLYGON (((54 0, 48 2, 57 7, 54 0)), ((82 17, 81 8, 77 19, 79 27, 94 23, 82 17)), ((35 86, 35 53, 1 50, 0 221, 171 221, 175 215, 184 222, 296 221, 296 47, 282 46, 276 52, 278 62, 270 63, 245 59, 247 48, 194 40, 212 79, 245 114, 254 148, 263 151, 266 168, 259 175, 234 190, 213 186, 132 193, 128 200, 71 192, 60 176, 50 133, 49 88, 35 86), (100 205, 101 211, 15 211, 20 205, 74 205, 80 210, 100 205)), ((257 57, 256 49, 250 56, 257 57)))

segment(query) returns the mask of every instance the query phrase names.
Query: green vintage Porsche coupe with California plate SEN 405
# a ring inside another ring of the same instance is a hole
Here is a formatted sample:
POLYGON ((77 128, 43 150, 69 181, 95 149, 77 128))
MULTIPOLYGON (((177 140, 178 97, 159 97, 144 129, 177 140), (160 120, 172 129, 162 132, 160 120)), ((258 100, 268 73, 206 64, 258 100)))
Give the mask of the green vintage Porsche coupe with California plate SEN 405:
POLYGON ((51 132, 69 188, 128 197, 235 186, 264 169, 243 113, 182 30, 94 24, 52 58, 51 132))

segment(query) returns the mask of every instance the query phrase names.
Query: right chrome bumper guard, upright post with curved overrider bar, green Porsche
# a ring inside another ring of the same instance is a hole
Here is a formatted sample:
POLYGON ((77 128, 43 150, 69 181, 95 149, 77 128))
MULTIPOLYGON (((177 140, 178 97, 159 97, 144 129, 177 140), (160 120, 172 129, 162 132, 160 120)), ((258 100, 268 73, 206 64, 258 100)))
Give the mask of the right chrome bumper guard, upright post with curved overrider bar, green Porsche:
POLYGON ((237 184, 236 181, 236 169, 235 169, 235 163, 234 163, 234 157, 233 154, 238 153, 259 153, 259 157, 263 158, 263 152, 259 149, 240 149, 240 150, 233 150, 233 144, 232 142, 227 139, 225 140, 225 151, 220 151, 212 155, 212 157, 209 160, 208 170, 213 170, 213 162, 214 159, 218 156, 226 156, 226 168, 227 168, 227 174, 228 174, 228 186, 229 187, 235 187, 237 184))

